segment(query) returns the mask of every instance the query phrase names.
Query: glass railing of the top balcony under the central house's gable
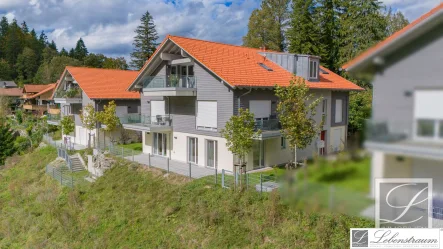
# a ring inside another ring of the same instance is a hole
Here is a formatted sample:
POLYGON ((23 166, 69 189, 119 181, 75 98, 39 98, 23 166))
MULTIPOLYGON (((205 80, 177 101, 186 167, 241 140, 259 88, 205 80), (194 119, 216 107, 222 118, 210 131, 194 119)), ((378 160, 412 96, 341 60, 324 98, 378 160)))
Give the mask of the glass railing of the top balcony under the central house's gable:
POLYGON ((143 88, 196 88, 195 76, 146 76, 143 78, 143 88))

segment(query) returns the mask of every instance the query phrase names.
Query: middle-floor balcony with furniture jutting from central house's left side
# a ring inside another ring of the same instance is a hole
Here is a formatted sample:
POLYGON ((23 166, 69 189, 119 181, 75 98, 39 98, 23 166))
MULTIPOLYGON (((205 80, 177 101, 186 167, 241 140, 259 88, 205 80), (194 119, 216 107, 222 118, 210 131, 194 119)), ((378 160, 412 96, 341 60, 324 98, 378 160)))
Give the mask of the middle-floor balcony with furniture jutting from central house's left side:
POLYGON ((148 116, 127 114, 119 117, 123 128, 127 130, 161 132, 172 130, 172 118, 169 115, 148 116))

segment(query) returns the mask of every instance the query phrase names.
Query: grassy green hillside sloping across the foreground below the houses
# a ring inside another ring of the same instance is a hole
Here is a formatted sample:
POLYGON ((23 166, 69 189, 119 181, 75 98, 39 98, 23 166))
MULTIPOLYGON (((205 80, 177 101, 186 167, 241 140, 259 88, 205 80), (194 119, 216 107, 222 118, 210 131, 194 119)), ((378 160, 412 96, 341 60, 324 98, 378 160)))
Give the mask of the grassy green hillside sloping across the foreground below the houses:
POLYGON ((71 190, 45 175, 55 157, 45 147, 0 170, 0 248, 348 248, 349 228, 373 227, 124 162, 71 190))

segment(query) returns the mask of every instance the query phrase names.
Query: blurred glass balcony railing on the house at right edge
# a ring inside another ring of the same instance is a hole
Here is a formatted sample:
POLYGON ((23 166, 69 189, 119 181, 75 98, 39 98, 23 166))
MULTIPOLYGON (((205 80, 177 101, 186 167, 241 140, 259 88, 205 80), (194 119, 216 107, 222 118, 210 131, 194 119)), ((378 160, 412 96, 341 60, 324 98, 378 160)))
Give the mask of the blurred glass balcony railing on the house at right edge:
POLYGON ((408 138, 405 133, 391 131, 387 122, 366 120, 365 125, 365 139, 369 142, 393 143, 408 138))

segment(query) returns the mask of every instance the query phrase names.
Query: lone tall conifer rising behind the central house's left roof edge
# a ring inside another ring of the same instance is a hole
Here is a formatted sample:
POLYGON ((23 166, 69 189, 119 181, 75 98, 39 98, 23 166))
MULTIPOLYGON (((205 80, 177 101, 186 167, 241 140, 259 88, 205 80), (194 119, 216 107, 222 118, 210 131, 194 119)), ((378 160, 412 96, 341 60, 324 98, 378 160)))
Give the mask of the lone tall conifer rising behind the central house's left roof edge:
POLYGON ((140 21, 141 25, 135 30, 134 52, 131 53, 131 66, 135 69, 142 68, 158 46, 158 34, 155 30, 154 19, 149 11, 146 11, 140 21))

